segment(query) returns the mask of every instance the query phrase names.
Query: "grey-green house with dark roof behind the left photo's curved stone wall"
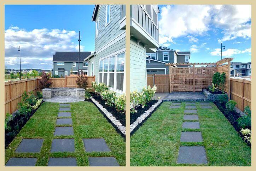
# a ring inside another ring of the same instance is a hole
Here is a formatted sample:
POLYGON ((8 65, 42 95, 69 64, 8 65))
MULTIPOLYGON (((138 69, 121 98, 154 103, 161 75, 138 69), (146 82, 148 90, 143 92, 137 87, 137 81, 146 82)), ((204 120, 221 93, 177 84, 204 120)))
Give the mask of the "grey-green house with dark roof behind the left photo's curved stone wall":
MULTIPOLYGON (((88 62, 83 60, 90 54, 91 52, 80 52, 80 74, 88 74, 88 62)), ((64 78, 70 74, 78 74, 78 52, 55 52, 52 61, 52 76, 58 75, 64 78)))

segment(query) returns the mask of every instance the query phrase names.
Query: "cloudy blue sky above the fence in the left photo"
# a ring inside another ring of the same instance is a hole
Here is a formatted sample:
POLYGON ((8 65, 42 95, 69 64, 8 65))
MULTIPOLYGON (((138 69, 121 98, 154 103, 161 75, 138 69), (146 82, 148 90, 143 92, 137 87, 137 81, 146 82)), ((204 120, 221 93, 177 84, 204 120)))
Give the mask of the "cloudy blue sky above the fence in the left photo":
POLYGON ((94 5, 5 5, 5 65, 23 69, 52 69, 55 51, 94 51, 94 5), (77 50, 76 50, 77 49, 77 50))

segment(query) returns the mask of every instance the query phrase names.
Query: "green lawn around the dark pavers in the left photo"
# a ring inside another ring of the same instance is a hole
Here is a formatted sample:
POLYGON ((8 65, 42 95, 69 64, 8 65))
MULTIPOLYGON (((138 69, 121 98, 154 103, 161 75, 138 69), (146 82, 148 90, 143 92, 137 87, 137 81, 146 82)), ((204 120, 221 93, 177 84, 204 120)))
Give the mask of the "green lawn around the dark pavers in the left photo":
POLYGON ((47 166, 49 157, 75 157, 78 166, 88 166, 88 157, 115 157, 125 166, 125 141, 92 102, 71 103, 74 136, 53 136, 59 104, 43 102, 5 150, 5 163, 10 157, 36 157, 36 166, 47 166), (40 153, 15 153, 22 138, 43 138, 40 153), (53 138, 74 138, 75 152, 50 153, 53 138), (111 152, 85 152, 83 138, 104 138, 111 152))

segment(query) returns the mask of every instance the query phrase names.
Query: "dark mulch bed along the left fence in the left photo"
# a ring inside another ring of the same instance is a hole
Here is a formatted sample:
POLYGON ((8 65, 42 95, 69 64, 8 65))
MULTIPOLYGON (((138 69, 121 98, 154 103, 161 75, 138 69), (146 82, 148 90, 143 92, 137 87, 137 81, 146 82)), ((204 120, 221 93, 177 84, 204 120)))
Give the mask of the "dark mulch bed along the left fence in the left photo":
MULTIPOLYGON (((41 103, 42 104, 42 103, 41 103)), ((41 104, 37 107, 37 109, 41 106, 41 104)), ((36 109, 36 110, 37 110, 36 109)), ((12 142, 12 140, 16 137, 16 135, 19 133, 19 131, 23 128, 23 126, 28 122, 28 120, 33 116, 33 114, 36 112, 36 110, 32 109, 31 113, 26 118, 24 115, 18 115, 14 116, 12 120, 8 122, 8 126, 11 127, 11 130, 15 130, 15 135, 10 136, 10 131, 5 130, 5 148, 8 147, 8 145, 12 142)))

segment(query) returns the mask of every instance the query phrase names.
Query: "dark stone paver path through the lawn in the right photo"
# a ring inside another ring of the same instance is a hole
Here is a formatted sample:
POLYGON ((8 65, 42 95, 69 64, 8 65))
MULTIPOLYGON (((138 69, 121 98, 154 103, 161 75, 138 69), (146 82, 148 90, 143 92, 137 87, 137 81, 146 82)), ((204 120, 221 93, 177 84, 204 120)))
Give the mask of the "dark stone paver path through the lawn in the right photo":
MULTIPOLYGON (((201 108, 212 108, 210 103, 200 103, 201 108)), ((186 102, 186 109, 196 109, 196 103, 186 102), (195 106, 188 106, 195 105, 195 106)), ((193 115, 184 114, 183 120, 187 122, 182 123, 182 129, 200 129, 199 122, 189 122, 188 120, 199 120, 197 110, 184 110, 184 113, 194 113, 193 115)), ((202 132, 182 131, 180 142, 203 142, 202 132)), ((202 146, 181 146, 179 147, 178 164, 207 164, 205 148, 202 146)))

